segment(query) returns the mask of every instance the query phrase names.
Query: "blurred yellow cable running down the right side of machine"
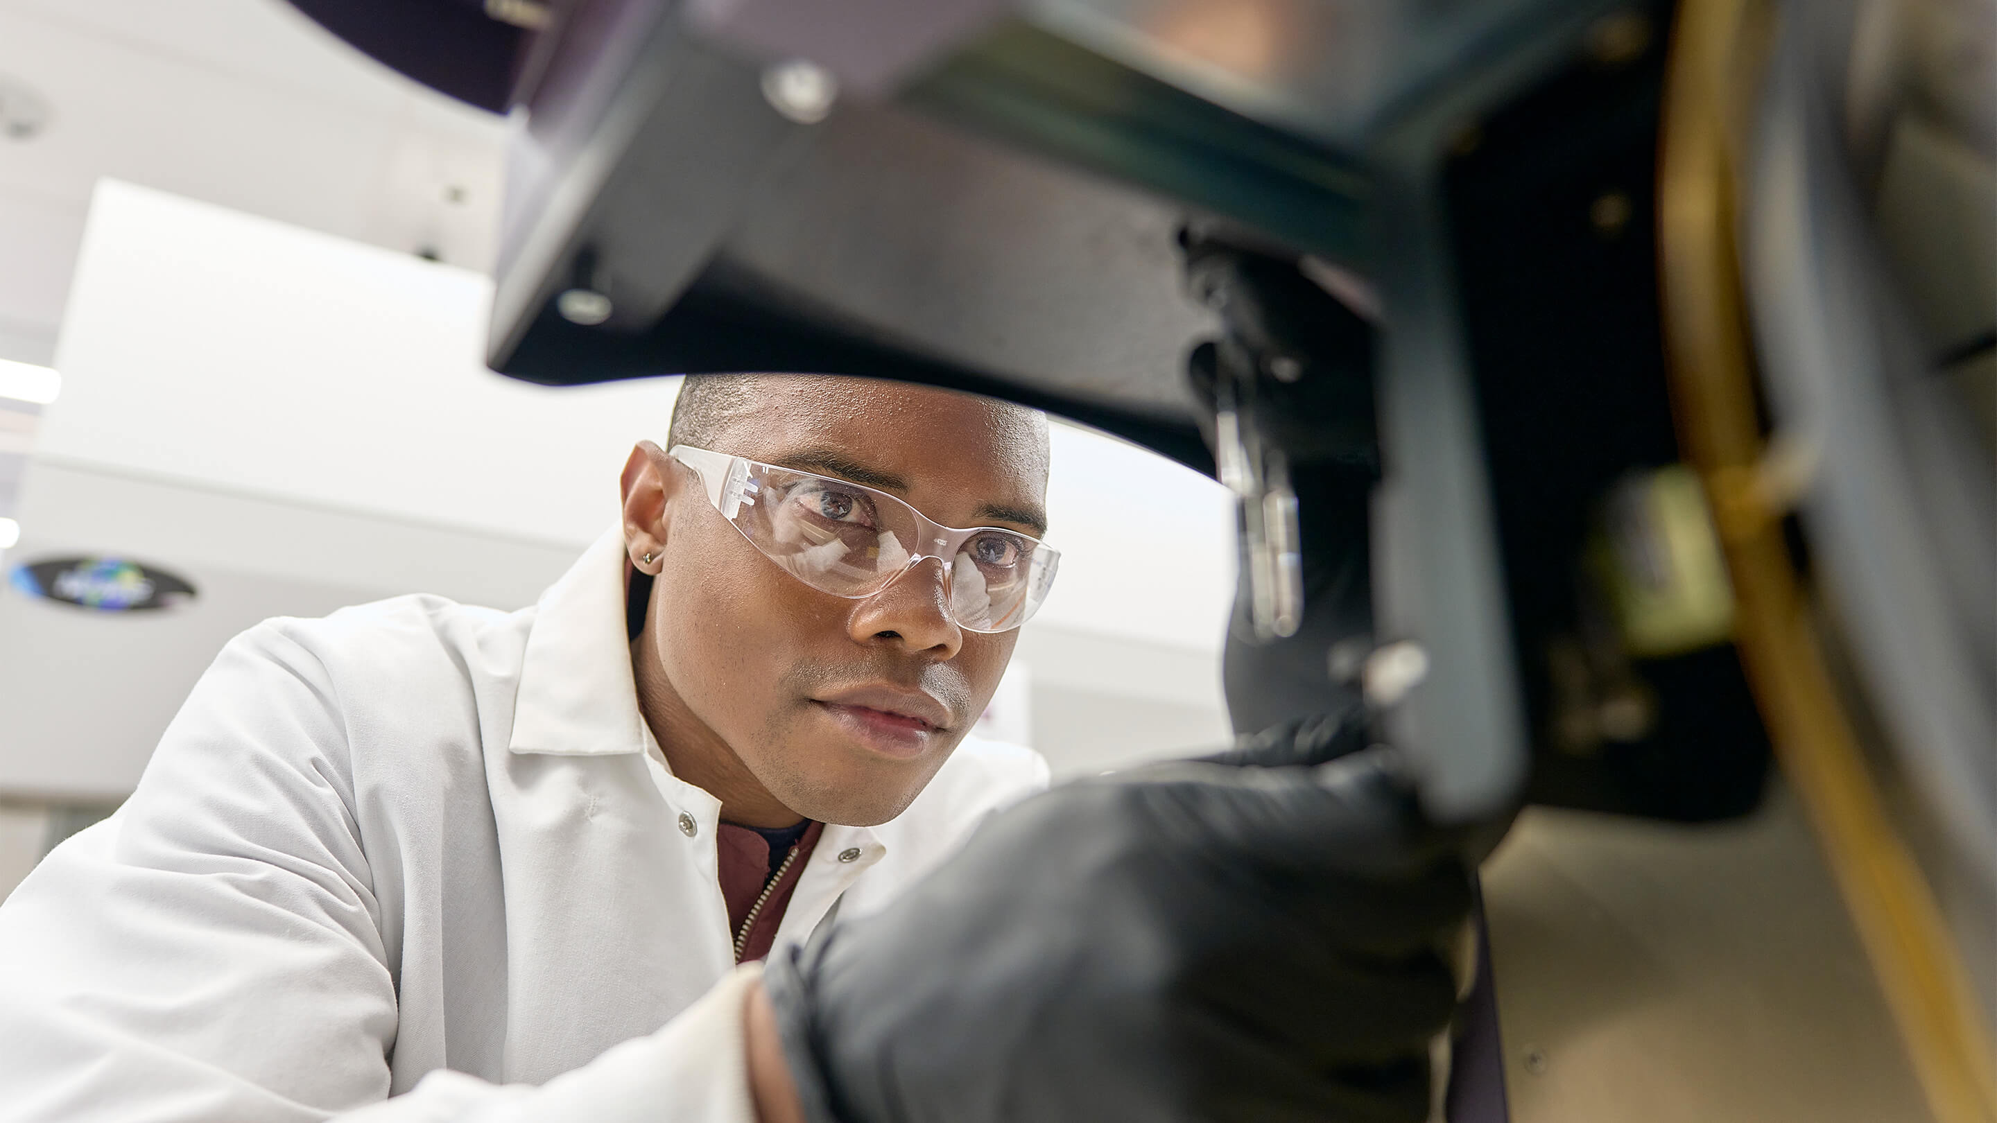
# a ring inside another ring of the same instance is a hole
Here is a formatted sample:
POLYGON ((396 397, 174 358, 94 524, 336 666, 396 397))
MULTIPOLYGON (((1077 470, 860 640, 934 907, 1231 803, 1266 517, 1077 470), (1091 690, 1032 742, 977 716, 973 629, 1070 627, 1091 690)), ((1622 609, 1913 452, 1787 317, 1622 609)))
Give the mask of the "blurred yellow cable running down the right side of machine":
POLYGON ((1683 0, 1660 168, 1660 268, 1679 436, 1719 524, 1737 641, 1939 1123, 1997 1123, 1997 1049, 1941 909, 1895 833, 1809 625, 1765 456, 1733 246, 1729 112, 1751 106, 1759 0, 1683 0))

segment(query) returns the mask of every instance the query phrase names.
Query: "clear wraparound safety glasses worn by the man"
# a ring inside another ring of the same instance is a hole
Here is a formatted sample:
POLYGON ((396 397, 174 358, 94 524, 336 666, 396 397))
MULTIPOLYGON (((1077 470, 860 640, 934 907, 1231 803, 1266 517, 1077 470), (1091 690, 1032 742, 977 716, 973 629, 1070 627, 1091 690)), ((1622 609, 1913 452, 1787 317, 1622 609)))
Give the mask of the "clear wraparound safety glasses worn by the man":
POLYGON ((1016 530, 949 528, 887 492, 725 452, 681 444, 667 456, 765 558, 835 597, 871 597, 935 558, 951 619, 991 633, 1026 623, 1054 583, 1060 554, 1016 530))

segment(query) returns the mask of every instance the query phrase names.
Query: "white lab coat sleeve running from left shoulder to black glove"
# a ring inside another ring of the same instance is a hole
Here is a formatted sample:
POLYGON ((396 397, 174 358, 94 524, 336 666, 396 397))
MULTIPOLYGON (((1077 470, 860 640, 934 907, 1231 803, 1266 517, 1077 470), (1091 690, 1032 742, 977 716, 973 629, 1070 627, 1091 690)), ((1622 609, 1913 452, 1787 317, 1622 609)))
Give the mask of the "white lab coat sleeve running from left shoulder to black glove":
POLYGON ((0 905, 0 1121, 753 1119, 735 975, 543 1087, 385 1101, 395 977, 345 751, 282 623, 224 647, 126 805, 0 905))

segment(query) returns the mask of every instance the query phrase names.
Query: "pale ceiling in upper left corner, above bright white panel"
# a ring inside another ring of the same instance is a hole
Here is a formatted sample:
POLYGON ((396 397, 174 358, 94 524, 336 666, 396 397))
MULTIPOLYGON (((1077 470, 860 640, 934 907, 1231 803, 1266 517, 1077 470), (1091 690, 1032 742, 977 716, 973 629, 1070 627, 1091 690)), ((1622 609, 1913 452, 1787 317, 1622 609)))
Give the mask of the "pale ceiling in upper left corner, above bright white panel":
POLYGON ((0 0, 0 358, 54 358, 100 178, 487 270, 503 134, 280 0, 0 0))

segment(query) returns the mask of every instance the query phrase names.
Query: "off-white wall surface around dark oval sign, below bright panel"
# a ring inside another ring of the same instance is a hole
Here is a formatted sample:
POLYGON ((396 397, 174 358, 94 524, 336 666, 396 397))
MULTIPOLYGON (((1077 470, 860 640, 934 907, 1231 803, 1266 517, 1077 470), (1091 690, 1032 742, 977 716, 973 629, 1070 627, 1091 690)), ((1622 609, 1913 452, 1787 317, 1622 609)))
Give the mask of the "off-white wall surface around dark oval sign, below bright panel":
POLYGON ((10 562, 116 556, 198 589, 162 611, 86 611, 0 591, 0 801, 124 797, 216 651, 272 615, 403 591, 531 603, 575 556, 409 520, 38 464, 10 562))

